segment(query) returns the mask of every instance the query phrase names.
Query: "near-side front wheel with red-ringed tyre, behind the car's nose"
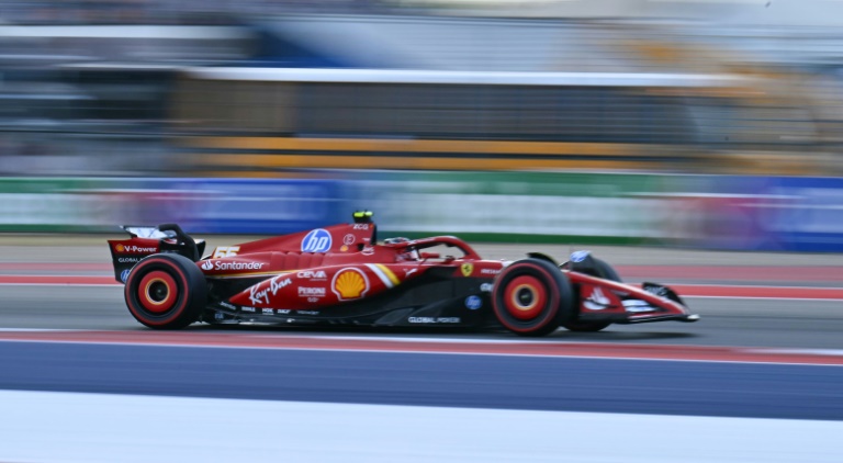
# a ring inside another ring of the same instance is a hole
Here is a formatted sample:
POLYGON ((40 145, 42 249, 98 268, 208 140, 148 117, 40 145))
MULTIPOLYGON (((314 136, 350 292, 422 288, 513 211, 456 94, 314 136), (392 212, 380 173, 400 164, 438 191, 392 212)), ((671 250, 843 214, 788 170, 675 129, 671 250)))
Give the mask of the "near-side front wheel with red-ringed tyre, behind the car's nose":
POLYGON ((544 336, 570 319, 572 291, 567 278, 552 263, 525 259, 506 267, 492 293, 495 317, 521 336, 544 336))

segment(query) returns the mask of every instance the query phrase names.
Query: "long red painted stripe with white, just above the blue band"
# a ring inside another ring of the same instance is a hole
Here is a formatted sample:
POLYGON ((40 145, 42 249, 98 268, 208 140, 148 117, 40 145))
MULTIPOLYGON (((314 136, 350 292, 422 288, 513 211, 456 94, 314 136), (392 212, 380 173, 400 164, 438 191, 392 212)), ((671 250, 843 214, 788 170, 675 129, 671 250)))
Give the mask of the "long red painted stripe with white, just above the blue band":
POLYGON ((475 342, 464 340, 454 342, 448 339, 419 341, 413 338, 334 338, 138 330, 5 331, 0 332, 0 341, 843 365, 843 352, 830 354, 828 351, 816 352, 808 349, 555 341, 494 342, 483 339, 475 342))

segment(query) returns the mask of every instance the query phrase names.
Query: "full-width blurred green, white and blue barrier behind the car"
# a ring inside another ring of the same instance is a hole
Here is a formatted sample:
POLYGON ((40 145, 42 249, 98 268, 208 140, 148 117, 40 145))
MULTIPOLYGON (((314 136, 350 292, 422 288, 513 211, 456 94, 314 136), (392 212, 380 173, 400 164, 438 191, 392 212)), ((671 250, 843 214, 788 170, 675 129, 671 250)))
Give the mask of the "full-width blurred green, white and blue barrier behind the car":
POLYGON ((279 235, 376 212, 382 236, 843 252, 843 179, 355 172, 338 179, 3 179, 0 229, 279 235), (502 214, 502 210, 505 213, 502 214))

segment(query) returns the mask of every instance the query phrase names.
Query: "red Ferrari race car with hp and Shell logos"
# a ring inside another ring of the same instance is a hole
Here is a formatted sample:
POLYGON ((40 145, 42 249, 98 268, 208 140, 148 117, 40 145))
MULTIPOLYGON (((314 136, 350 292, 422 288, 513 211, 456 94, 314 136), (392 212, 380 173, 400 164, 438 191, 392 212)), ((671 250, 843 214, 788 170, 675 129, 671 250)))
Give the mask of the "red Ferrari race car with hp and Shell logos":
POLYGON ((560 326, 696 321, 672 290, 633 286, 587 251, 562 264, 542 253, 486 260, 452 236, 376 241, 370 212, 204 256, 178 225, 123 228, 109 240, 132 315, 159 329, 207 324, 506 328, 542 336, 560 326))

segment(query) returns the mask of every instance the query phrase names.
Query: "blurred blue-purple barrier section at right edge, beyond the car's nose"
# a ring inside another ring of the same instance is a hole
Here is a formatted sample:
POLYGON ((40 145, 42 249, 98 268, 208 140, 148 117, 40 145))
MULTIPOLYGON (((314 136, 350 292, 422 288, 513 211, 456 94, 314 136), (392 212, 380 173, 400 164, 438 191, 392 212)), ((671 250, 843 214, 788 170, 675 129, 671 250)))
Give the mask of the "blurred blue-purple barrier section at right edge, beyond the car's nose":
POLYGON ((800 252, 843 251, 843 179, 666 177, 679 202, 687 247, 800 252))

